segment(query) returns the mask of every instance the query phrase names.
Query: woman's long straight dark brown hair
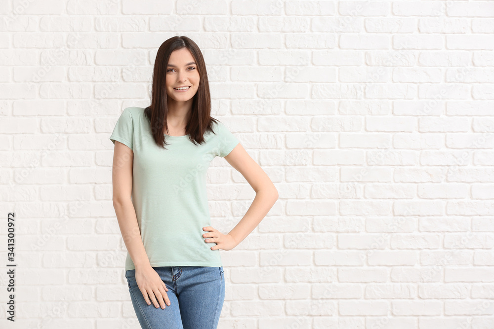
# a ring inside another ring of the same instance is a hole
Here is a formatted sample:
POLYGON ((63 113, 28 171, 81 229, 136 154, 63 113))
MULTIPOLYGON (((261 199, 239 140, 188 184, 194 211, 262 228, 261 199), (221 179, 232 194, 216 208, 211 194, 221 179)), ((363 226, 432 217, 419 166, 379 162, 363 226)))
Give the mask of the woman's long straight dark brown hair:
MULTIPOLYGON (((207 80, 206 63, 204 62, 203 53, 198 45, 190 38, 185 36, 170 37, 162 43, 156 54, 153 85, 151 95, 151 106, 144 109, 144 113, 151 125, 151 133, 156 144, 165 148, 165 127, 167 127, 166 118, 168 115, 168 95, 165 88, 166 67, 168 60, 173 51, 187 48, 197 64, 199 71, 199 88, 192 101, 192 110, 189 117, 185 133, 189 140, 194 144, 204 143, 204 134, 212 130, 213 122, 218 120, 212 118, 211 114, 211 95, 209 93, 209 82, 207 80), (166 125, 166 126, 165 126, 166 125)), ((214 133, 214 132, 213 132, 214 133)), ((165 148, 166 149, 166 148, 165 148)))

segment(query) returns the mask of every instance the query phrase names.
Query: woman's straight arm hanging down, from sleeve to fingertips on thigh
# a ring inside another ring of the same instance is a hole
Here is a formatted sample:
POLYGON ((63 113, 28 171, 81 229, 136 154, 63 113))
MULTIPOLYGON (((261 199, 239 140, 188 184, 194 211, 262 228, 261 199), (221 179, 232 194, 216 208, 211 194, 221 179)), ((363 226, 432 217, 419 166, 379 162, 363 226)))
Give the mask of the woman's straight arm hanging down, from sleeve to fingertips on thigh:
POLYGON ((142 243, 141 232, 137 224, 134 205, 132 204, 132 167, 134 152, 130 147, 115 141, 113 152, 113 208, 119 222, 125 247, 135 266, 135 280, 144 299, 155 307, 165 308, 170 305, 165 283, 151 267, 142 243), (148 297, 149 295, 149 297, 148 297))

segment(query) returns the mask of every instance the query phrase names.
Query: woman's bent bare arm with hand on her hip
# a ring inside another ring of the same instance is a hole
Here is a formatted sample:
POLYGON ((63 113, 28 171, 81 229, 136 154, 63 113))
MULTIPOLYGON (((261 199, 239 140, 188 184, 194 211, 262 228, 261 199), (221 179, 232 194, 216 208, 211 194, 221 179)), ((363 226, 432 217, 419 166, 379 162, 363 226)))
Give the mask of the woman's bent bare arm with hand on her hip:
POLYGON ((278 190, 275 185, 240 143, 225 156, 225 160, 239 171, 252 186, 255 191, 255 198, 244 217, 230 233, 222 234, 211 226, 203 227, 203 230, 210 231, 203 234, 203 237, 208 238, 206 242, 216 243, 214 247, 211 247, 211 250, 235 248, 256 228, 278 200, 278 190))

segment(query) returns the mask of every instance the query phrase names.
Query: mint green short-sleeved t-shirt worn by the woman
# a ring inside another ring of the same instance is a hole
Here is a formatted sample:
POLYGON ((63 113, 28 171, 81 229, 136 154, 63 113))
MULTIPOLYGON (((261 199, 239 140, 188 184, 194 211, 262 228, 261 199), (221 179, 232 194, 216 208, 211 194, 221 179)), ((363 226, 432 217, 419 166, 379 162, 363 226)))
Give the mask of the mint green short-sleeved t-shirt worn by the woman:
MULTIPOLYGON (((214 157, 224 157, 239 140, 222 124, 206 132, 206 143, 188 136, 165 135, 167 149, 156 145, 144 109, 126 108, 110 140, 134 152, 132 194, 137 223, 151 266, 223 266, 214 242, 206 243, 211 226, 206 171, 214 157)), ((135 269, 127 252, 125 270, 135 269)))

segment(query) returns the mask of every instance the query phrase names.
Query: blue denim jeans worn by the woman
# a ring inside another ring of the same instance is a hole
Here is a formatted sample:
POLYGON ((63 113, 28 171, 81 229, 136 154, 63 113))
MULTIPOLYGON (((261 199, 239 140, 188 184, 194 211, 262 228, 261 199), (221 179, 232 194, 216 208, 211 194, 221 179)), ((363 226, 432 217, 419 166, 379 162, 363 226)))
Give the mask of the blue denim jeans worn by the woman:
MULTIPOLYGON (((168 288, 170 306, 148 305, 135 281, 135 270, 125 271, 130 299, 143 329, 216 329, 223 301, 223 267, 153 267, 168 288)), ((150 298, 151 300, 151 298, 150 298)))

